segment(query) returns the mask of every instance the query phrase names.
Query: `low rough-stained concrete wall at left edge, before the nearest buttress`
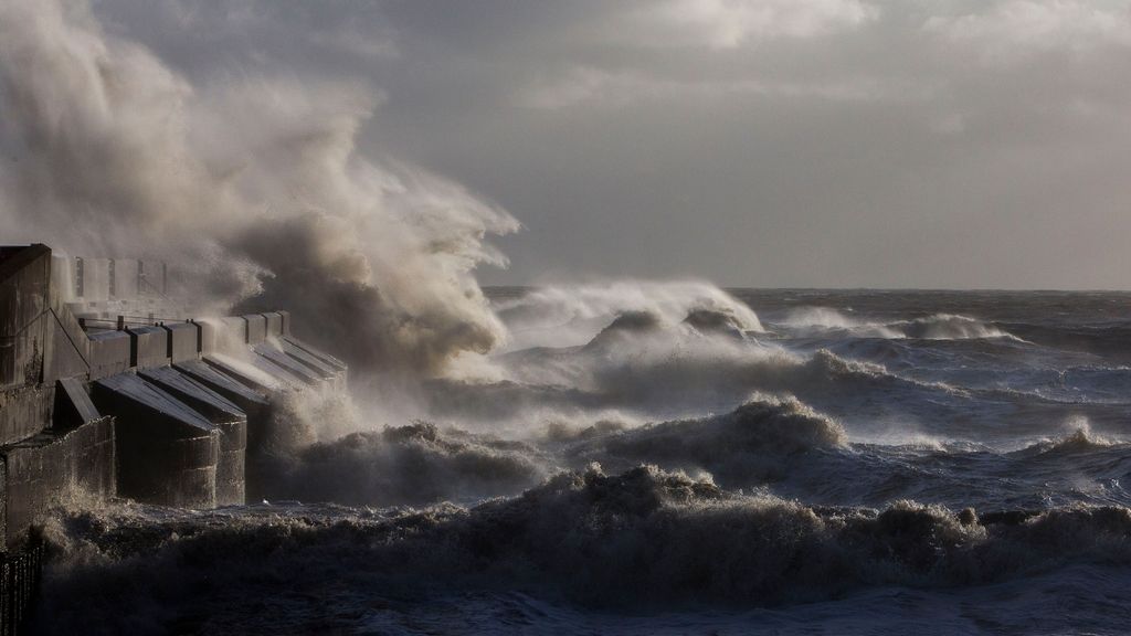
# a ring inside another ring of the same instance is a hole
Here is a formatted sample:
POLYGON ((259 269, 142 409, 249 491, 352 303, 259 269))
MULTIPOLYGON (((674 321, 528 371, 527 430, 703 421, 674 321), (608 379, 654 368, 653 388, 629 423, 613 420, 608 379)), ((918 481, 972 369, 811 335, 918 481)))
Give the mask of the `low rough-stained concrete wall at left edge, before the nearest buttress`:
POLYGON ((114 422, 98 418, 0 449, 5 541, 14 545, 57 504, 96 505, 114 495, 114 422))

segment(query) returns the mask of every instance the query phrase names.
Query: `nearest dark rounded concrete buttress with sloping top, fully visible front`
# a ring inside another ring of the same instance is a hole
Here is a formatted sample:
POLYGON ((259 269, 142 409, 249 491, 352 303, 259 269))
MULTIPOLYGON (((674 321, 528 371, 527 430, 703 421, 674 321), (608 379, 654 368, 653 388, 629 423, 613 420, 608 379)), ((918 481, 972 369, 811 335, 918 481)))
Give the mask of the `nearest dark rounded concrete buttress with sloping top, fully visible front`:
POLYGON ((130 373, 96 381, 92 397, 116 420, 119 495, 165 506, 216 506, 218 428, 130 373))

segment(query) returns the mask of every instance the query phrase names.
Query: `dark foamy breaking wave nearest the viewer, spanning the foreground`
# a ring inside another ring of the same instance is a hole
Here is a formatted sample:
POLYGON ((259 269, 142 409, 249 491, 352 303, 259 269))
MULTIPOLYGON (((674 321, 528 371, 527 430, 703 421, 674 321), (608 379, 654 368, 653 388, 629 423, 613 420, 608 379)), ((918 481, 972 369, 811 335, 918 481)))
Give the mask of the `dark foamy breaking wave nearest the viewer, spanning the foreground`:
POLYGON ((67 517, 49 539, 63 558, 51 566, 43 628, 152 631, 188 614, 221 630, 270 627, 278 611, 293 621, 313 599, 354 612, 437 591, 524 590, 606 610, 750 608, 1129 565, 1131 512, 1073 507, 983 525, 972 510, 812 508, 648 466, 592 467, 469 509, 127 508, 67 517))

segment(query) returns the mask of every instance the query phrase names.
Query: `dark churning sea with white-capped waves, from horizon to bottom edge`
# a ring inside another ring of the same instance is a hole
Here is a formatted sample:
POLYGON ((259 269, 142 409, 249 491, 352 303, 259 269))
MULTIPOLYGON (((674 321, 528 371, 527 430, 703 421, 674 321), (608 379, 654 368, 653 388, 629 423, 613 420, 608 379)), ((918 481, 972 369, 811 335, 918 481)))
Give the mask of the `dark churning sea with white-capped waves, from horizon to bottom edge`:
POLYGON ((491 298, 504 347, 355 387, 271 504, 61 509, 40 627, 1131 631, 1131 294, 491 298))

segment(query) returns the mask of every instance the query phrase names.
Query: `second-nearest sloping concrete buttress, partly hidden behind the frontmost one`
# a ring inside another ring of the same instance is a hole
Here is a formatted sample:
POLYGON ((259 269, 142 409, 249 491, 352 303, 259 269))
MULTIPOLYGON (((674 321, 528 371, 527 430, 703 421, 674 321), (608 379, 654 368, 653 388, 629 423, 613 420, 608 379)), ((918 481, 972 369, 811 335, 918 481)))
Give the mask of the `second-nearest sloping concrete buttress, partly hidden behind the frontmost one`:
POLYGON ((244 458, 248 448, 248 415, 224 396, 190 376, 170 367, 138 372, 146 381, 208 418, 219 428, 219 457, 216 464, 216 505, 244 502, 244 458))

